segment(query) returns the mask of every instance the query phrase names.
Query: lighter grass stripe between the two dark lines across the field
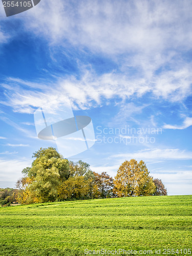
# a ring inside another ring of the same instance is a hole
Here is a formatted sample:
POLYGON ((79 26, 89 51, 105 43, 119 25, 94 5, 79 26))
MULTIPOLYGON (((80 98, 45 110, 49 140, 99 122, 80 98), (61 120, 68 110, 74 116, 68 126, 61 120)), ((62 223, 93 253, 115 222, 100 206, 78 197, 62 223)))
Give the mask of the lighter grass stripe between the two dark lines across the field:
POLYGON ((1 216, 0 228, 33 228, 33 229, 65 229, 65 228, 116 228, 116 229, 192 229, 191 217, 184 216, 121 216, 117 219, 115 216, 100 218, 95 216, 33 216, 26 218, 14 216, 1 216), (19 223, 19 225, 18 225, 19 223))

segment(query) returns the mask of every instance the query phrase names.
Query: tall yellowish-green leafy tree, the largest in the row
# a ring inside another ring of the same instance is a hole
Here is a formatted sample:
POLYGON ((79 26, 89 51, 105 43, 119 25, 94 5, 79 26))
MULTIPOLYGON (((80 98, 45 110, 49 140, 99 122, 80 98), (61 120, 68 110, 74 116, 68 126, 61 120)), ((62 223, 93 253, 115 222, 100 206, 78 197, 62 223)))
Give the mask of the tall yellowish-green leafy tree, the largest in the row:
POLYGON ((69 162, 61 159, 55 148, 40 148, 33 154, 36 159, 29 170, 33 179, 30 190, 35 191, 39 202, 54 201, 60 181, 69 177, 69 162))

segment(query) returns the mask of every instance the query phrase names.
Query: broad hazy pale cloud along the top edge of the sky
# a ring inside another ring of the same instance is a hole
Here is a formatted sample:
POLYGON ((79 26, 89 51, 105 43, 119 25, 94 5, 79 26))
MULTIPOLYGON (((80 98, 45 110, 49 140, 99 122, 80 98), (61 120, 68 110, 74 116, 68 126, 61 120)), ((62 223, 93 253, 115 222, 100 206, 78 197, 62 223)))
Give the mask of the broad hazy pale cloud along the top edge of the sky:
POLYGON ((140 53, 150 54, 168 46, 191 44, 191 5, 190 1, 176 4, 147 0, 105 1, 102 5, 99 0, 75 4, 57 0, 55 5, 47 0, 29 10, 24 22, 51 44, 61 43, 65 38, 74 46, 86 46, 93 51, 117 54, 139 49, 140 53))

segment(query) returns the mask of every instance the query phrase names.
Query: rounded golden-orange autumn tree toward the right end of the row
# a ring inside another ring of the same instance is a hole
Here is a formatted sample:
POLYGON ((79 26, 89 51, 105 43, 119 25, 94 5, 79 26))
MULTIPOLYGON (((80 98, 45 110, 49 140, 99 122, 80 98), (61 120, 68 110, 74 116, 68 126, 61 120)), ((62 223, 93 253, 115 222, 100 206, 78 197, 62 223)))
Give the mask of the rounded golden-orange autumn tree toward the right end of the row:
POLYGON ((123 162, 114 178, 114 192, 118 197, 152 196, 155 184, 149 173, 142 160, 123 162))

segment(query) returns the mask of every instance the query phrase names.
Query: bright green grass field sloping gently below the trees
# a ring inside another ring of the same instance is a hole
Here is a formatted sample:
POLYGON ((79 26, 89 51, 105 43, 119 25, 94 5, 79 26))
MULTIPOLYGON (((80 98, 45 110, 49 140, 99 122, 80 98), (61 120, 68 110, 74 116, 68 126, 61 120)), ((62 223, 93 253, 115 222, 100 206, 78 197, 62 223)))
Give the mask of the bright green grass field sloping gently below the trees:
POLYGON ((93 252, 102 248, 116 252, 125 249, 129 255, 136 255, 134 250, 137 255, 141 255, 140 250, 143 254, 151 254, 147 250, 155 254, 156 249, 161 249, 159 255, 169 254, 169 250, 163 249, 174 249, 170 255, 189 255, 191 219, 192 196, 1 207, 0 255, 72 256, 86 255, 84 249, 93 252))

